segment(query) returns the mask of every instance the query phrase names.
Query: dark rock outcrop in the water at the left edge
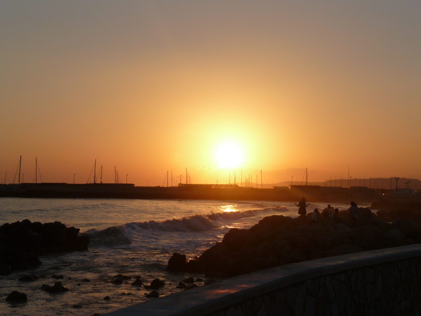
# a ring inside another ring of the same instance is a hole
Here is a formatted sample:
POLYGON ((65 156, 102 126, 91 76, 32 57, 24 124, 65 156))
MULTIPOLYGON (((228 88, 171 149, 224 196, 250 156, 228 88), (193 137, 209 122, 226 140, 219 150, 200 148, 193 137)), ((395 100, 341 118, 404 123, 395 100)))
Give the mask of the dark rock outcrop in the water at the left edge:
POLYGON ((78 236, 79 230, 29 220, 0 226, 0 275, 41 265, 40 254, 88 250, 89 236, 78 236))

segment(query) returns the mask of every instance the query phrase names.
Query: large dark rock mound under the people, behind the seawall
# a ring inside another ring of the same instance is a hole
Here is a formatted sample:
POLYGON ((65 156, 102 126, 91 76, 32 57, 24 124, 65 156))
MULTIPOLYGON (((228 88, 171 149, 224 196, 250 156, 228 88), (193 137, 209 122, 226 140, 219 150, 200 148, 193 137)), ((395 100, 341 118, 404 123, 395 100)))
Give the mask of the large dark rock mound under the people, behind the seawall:
POLYGON ((381 220, 370 209, 359 208, 359 224, 349 227, 349 212, 342 223, 320 216, 308 225, 299 218, 272 215, 250 229, 232 228, 223 240, 187 262, 175 253, 168 271, 204 272, 210 277, 232 277, 264 268, 322 257, 349 254, 421 242, 421 224, 408 219, 381 220))

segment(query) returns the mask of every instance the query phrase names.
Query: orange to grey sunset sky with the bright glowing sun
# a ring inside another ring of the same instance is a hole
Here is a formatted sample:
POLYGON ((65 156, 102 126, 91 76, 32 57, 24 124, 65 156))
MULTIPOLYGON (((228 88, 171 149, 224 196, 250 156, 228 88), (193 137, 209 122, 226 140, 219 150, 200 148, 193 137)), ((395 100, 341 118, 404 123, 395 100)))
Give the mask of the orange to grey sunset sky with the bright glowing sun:
POLYGON ((95 159, 103 182, 136 185, 186 168, 421 178, 420 16, 420 1, 2 1, 0 177, 22 155, 24 182, 35 157, 44 182, 91 182, 95 159))

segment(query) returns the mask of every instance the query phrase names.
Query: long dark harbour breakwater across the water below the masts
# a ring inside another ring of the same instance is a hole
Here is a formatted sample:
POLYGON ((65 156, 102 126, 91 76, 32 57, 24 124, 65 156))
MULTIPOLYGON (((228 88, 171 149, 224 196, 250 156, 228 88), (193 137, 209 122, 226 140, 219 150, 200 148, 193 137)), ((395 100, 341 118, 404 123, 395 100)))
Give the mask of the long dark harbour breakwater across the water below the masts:
POLYGON ((240 187, 238 185, 182 185, 177 187, 136 187, 115 183, 21 183, 0 185, 0 197, 19 198, 137 198, 199 199, 240 201, 298 201, 372 203, 380 197, 373 189, 296 185, 291 189, 240 187))

